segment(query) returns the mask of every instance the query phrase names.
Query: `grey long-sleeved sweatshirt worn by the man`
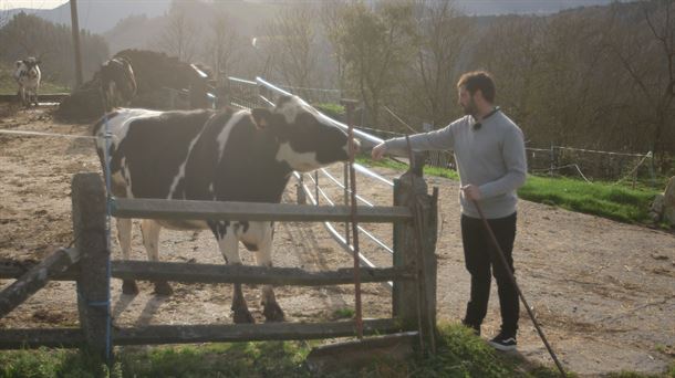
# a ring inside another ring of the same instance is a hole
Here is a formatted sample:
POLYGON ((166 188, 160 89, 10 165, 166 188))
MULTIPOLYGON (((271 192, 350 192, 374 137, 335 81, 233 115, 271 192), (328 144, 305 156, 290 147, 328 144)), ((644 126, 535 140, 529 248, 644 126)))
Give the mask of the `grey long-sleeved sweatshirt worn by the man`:
MULTIPOLYGON (((409 137, 413 150, 455 153, 461 186, 472 183, 480 190, 479 201, 488 219, 503 218, 516 211, 516 189, 525 183, 527 159, 520 128, 503 113, 497 112, 474 129, 474 117, 461 117, 448 126, 409 137)), ((388 139, 386 153, 406 156, 404 137, 388 139)), ((459 191, 461 213, 479 218, 478 211, 459 191)))

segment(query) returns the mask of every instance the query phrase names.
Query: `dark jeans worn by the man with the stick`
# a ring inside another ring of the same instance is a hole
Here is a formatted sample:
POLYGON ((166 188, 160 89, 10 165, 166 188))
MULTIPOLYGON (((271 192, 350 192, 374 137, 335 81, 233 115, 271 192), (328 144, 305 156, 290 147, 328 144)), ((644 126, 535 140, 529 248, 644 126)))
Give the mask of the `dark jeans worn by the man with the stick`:
MULTIPOLYGON (((516 239, 516 213, 506 218, 488 219, 492 232, 505 253, 511 272, 513 270, 513 240, 516 239)), ((509 280, 503 263, 498 255, 482 220, 461 216, 461 241, 466 269, 471 274, 471 297, 467 304, 464 323, 478 327, 488 309, 490 284, 497 280, 499 306, 501 309, 501 329, 516 333, 518 329, 519 302, 518 292, 509 280)))

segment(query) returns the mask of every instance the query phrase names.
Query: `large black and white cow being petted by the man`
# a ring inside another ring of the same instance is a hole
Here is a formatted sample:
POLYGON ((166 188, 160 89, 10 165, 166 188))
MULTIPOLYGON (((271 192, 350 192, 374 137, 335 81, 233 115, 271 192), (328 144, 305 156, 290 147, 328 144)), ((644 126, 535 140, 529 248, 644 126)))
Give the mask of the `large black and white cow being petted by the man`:
MULTIPOLYGON (((273 109, 222 112, 120 108, 108 115, 112 192, 125 198, 216 201, 281 201, 293 170, 310 171, 347 159, 347 137, 325 124, 298 97, 281 97, 273 109)), ((94 127, 103 156, 104 120, 94 127)), ((228 264, 241 264, 239 242, 256 253, 259 265, 271 266, 272 222, 142 221, 149 260, 158 260, 160 228, 210 229, 228 264)), ((131 219, 117 219, 124 259, 129 258, 131 219)), ((170 294, 166 282, 155 282, 158 294, 170 294)), ((123 292, 137 293, 133 281, 123 292)), ((271 286, 262 287, 267 321, 282 321, 271 286)), ((251 323, 241 284, 232 298, 236 323, 251 323)))

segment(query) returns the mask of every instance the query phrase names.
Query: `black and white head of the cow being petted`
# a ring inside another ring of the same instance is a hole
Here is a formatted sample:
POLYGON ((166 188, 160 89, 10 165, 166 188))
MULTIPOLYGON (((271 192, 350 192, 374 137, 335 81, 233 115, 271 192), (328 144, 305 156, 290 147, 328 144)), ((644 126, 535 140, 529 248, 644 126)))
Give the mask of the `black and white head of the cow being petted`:
POLYGON ((349 159, 346 133, 297 96, 283 96, 273 109, 256 108, 251 114, 258 128, 279 140, 277 160, 293 170, 307 172, 349 159))

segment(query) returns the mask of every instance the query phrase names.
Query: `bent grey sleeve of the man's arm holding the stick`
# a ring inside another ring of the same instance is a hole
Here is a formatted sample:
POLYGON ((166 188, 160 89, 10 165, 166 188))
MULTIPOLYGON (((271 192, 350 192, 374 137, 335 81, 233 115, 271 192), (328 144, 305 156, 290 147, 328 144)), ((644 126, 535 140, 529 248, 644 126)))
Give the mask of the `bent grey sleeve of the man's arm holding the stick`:
POLYGON ((501 154, 503 156, 507 172, 497 180, 486 182, 478 187, 480 195, 484 198, 508 193, 520 188, 525 183, 528 172, 528 162, 525 153, 522 130, 520 130, 520 128, 513 127, 507 132, 501 154))

